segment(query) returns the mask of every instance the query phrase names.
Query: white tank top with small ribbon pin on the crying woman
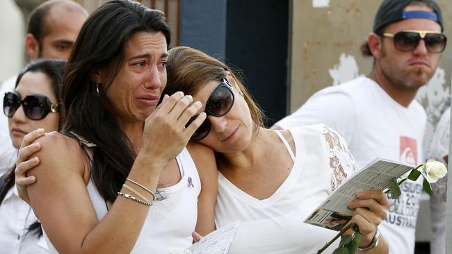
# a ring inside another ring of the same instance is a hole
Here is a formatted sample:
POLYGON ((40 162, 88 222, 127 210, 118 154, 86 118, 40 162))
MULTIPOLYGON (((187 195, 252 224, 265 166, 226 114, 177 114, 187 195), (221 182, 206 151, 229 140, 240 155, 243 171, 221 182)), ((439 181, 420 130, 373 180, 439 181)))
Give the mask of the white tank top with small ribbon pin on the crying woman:
MULTIPOLYGON (((191 233, 197 221, 197 196, 201 191, 200 176, 187 149, 176 157, 181 180, 171 187, 161 188, 163 200, 154 201, 140 236, 131 253, 181 253, 192 244, 191 233)), ((104 198, 92 180, 86 186, 99 221, 107 209, 104 198)), ((50 253, 58 253, 45 235, 50 253)))

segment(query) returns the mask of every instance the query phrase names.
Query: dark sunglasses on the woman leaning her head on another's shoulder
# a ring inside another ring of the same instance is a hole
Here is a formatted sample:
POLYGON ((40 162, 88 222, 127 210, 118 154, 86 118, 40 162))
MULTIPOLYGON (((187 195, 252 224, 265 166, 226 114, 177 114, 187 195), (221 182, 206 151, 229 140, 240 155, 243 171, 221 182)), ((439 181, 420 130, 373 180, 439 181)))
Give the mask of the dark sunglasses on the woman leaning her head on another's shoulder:
MULTIPOLYGON (((232 91, 232 85, 226 80, 223 79, 223 82, 218 85, 218 87, 213 90, 212 94, 209 96, 209 99, 206 103, 206 112, 207 116, 213 115, 214 117, 223 117, 224 115, 231 110, 232 105, 234 105, 234 92, 232 91)), ((192 117, 190 121, 186 124, 188 126, 191 124, 195 117, 192 117)), ((209 134, 211 128, 211 123, 209 119, 205 119, 199 128, 193 133, 191 136, 191 141, 200 141, 204 137, 209 134)))

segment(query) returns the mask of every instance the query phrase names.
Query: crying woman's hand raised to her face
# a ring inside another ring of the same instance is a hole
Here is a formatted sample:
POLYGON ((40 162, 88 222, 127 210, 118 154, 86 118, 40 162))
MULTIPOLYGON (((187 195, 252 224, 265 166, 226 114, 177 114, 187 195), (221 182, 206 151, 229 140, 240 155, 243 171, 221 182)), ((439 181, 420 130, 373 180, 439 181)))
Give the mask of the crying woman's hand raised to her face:
POLYGON ((163 165, 174 159, 206 119, 202 112, 186 126, 201 108, 202 103, 193 103, 193 97, 183 92, 163 96, 162 103, 145 121, 140 153, 151 154, 153 160, 161 160, 163 165))

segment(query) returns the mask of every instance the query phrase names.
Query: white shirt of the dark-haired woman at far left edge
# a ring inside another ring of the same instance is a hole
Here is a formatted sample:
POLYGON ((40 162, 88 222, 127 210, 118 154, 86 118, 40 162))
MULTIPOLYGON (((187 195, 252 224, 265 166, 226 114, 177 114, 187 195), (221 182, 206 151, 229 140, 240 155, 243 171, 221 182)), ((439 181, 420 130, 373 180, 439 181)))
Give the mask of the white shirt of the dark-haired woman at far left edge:
POLYGON ((30 205, 19 198, 13 186, 0 205, 0 254, 48 253, 43 237, 26 235, 35 218, 30 205))

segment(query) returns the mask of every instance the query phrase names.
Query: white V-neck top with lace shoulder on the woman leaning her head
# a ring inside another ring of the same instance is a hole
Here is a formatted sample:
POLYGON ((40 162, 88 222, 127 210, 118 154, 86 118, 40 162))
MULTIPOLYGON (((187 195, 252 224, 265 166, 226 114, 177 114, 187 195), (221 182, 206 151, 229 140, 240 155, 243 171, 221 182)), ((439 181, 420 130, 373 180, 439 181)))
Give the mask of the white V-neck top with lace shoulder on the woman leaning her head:
MULTIPOLYGON (((240 221, 229 254, 316 253, 337 235, 337 231, 303 221, 356 171, 355 161, 344 139, 323 124, 290 132, 295 141, 293 167, 269 198, 254 198, 218 174, 216 226, 240 221)), ((286 147, 290 153, 290 146, 286 147)), ((325 253, 332 253, 338 244, 333 243, 325 253)))

